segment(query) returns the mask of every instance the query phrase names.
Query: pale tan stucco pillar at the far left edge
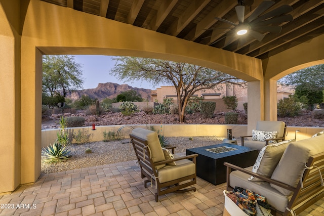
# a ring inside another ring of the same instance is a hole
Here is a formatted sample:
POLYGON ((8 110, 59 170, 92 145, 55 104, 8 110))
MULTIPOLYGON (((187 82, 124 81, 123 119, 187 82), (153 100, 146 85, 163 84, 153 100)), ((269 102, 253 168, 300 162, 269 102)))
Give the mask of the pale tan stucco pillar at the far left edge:
POLYGON ((20 36, 0 4, 0 193, 20 184, 20 36))

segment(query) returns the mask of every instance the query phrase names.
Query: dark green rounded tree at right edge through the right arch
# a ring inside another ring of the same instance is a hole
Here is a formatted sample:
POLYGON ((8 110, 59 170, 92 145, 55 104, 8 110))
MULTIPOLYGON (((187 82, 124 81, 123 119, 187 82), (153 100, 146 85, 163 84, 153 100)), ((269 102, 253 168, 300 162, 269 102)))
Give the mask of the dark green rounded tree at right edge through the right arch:
POLYGON ((305 96, 310 110, 313 110, 315 104, 323 102, 322 88, 312 85, 312 83, 303 82, 296 87, 295 95, 297 98, 305 96))

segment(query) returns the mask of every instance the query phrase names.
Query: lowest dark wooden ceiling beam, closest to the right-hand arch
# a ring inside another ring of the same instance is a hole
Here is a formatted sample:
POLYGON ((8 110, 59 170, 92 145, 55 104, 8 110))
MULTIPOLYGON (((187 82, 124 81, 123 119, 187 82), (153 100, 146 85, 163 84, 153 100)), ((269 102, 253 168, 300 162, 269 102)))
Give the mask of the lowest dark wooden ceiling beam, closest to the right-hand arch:
MULTIPOLYGON (((298 39, 299 37, 302 37, 320 27, 324 26, 324 17, 317 19, 316 21, 304 25, 302 28, 298 28, 297 30, 291 32, 290 34, 285 35, 284 37, 280 37, 279 39, 276 39, 275 41, 271 42, 270 45, 266 45, 258 49, 255 54, 262 55, 267 52, 270 52, 271 50, 274 50, 280 46, 284 46, 285 44, 288 44, 289 42, 292 42, 293 40, 298 39)), ((255 55, 251 53, 252 55, 255 55)))

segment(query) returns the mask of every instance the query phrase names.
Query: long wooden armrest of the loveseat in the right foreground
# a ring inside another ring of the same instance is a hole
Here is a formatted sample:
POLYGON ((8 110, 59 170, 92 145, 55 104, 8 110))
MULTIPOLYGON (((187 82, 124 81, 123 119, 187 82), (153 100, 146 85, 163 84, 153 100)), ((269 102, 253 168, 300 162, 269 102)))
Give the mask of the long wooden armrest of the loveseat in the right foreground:
MULTIPOLYGON (((281 182, 275 181, 275 180, 270 179, 270 178, 268 178, 268 177, 260 176, 259 174, 256 174, 256 173, 254 173, 254 172, 252 172, 252 171, 250 171, 250 170, 244 169, 244 168, 242 168, 242 167, 236 166, 236 165, 234 165, 234 164, 231 164, 231 163, 225 162, 224 165, 226 166, 226 168, 227 168, 227 172, 229 172, 229 173, 231 172, 231 169, 235 169, 235 170, 238 170, 238 171, 244 172, 244 173, 246 173, 246 174, 249 174, 249 175, 251 175, 251 176, 254 176, 255 178, 261 179, 261 180, 263 180, 263 181, 265 181, 265 182, 268 182, 268 183, 270 183, 270 184, 277 185, 277 186, 279 186, 279 187, 281 187, 281 188, 284 188, 284 189, 287 189, 287 190, 290 190, 290 191, 295 191, 295 190, 296 190, 295 187, 292 187, 292 186, 287 185, 287 184, 285 184, 285 183, 281 183, 281 182)), ((229 173, 227 173, 227 175, 228 175, 228 180, 227 180, 228 182, 227 182, 227 184, 229 184, 229 173)))

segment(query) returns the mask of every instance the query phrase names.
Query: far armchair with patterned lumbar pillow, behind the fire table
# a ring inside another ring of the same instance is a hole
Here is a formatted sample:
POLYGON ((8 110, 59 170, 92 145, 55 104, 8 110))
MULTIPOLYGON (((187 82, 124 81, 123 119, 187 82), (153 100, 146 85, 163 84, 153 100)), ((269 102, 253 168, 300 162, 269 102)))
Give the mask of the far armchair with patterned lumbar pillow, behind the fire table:
POLYGON ((258 121, 252 136, 241 137, 241 145, 260 151, 271 142, 284 141, 286 129, 286 123, 283 121, 258 121), (246 140, 248 137, 252 139, 246 140))

